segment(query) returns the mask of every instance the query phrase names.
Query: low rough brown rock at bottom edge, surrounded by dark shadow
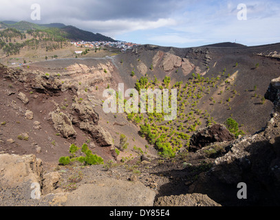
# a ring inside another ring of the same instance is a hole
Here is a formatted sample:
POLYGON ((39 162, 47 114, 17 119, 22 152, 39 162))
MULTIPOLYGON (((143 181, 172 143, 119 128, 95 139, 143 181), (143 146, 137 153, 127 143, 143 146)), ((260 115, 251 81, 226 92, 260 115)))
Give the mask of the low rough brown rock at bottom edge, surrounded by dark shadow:
POLYGON ((221 206, 200 193, 159 197, 154 206, 221 206))

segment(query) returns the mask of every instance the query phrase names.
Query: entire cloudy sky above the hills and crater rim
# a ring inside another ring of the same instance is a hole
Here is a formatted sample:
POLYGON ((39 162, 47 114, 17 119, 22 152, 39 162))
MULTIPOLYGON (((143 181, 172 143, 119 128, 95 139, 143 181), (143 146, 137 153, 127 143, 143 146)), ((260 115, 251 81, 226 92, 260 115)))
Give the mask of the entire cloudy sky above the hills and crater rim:
POLYGON ((172 47, 280 43, 279 0, 1 0, 0 21, 64 23, 172 47))

